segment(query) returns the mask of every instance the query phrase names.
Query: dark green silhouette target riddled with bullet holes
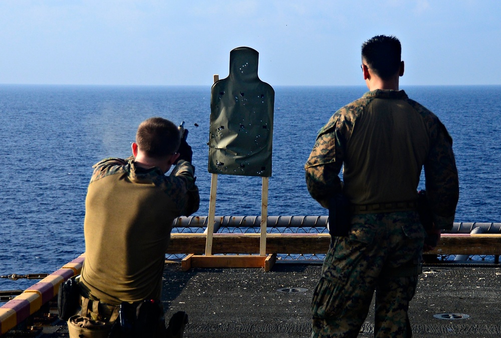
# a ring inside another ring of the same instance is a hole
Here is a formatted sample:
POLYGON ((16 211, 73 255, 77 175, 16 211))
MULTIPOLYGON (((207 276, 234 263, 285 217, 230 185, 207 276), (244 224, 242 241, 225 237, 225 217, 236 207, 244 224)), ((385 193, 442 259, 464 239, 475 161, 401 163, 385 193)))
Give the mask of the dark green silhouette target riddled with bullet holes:
POLYGON ((230 52, 229 75, 210 89, 208 172, 272 176, 275 91, 258 76, 259 53, 230 52))

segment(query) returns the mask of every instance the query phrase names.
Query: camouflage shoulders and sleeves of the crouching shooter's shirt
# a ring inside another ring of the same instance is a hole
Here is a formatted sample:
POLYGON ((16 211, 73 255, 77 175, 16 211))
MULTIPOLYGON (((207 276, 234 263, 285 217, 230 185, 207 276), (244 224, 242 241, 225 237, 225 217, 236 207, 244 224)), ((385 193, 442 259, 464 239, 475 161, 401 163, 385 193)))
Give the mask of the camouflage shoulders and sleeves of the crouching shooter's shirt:
POLYGON ((123 175, 134 183, 153 183, 165 194, 172 197, 174 203, 177 203, 177 208, 185 211, 183 215, 190 215, 198 210, 200 198, 198 188, 195 185, 195 167, 192 164, 180 160, 170 175, 165 176, 160 168, 144 169, 136 166, 134 160, 134 156, 129 156, 126 159, 109 157, 97 162, 92 166, 94 173, 90 183, 109 175, 123 175), (193 202, 192 205, 187 204, 186 195, 188 194, 192 196, 190 199, 193 202))

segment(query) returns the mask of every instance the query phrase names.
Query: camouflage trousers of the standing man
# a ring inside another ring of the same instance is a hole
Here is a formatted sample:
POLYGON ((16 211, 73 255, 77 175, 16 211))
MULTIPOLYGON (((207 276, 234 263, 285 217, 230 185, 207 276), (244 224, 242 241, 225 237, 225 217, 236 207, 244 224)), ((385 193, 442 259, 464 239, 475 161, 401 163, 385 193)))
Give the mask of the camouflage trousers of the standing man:
POLYGON ((374 291, 375 337, 411 337, 407 311, 425 232, 416 212, 355 215, 335 237, 312 300, 312 338, 357 337, 374 291))

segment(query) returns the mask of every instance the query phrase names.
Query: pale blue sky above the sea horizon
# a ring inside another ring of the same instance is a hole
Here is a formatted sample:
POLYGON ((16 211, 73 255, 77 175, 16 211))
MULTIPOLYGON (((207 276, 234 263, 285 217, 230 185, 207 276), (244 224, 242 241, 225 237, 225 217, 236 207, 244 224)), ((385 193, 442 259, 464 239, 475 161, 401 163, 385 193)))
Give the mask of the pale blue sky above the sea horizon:
POLYGON ((0 83, 210 85, 231 49, 271 85, 364 85, 360 46, 402 42, 402 85, 501 84, 501 1, 3 0, 0 83))

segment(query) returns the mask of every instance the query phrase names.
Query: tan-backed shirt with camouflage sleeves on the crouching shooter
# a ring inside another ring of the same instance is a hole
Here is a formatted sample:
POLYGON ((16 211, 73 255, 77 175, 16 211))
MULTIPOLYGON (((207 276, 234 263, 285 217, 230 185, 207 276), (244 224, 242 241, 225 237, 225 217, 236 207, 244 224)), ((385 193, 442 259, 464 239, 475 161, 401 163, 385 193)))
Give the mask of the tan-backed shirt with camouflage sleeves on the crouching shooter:
POLYGON ((84 293, 112 305, 160 299, 172 222, 199 201, 194 167, 184 160, 170 176, 136 166, 134 157, 95 164, 85 203, 84 293))

